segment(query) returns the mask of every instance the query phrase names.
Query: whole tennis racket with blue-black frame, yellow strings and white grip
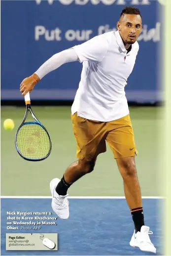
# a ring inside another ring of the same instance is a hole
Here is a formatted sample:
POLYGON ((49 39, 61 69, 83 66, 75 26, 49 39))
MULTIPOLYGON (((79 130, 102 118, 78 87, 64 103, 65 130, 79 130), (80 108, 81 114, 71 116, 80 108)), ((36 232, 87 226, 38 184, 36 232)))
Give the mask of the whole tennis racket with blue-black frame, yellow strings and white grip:
POLYGON ((47 129, 34 116, 29 92, 25 96, 25 103, 26 112, 15 135, 15 147, 25 160, 41 161, 50 155, 52 141, 47 129), (33 122, 25 122, 29 112, 34 118, 33 122))

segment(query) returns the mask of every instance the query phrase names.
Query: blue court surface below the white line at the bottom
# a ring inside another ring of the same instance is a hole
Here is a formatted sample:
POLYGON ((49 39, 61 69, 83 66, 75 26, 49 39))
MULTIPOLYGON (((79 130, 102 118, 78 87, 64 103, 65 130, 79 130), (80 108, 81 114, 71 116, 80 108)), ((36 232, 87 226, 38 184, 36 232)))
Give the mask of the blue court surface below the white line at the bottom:
MULTIPOLYGON (((164 255, 161 249, 162 223, 159 218, 162 203, 162 199, 143 199, 145 224, 154 232, 150 237, 157 248, 157 255, 164 255)), ((52 212, 51 216, 56 217, 49 198, 1 199, 1 256, 153 255, 129 245, 134 224, 125 199, 69 199, 69 218, 57 219, 57 225, 41 225, 39 231, 7 230, 7 211, 52 212), (58 233, 58 251, 6 251, 6 233, 58 233)), ((18 227, 20 228, 20 225, 18 227)))

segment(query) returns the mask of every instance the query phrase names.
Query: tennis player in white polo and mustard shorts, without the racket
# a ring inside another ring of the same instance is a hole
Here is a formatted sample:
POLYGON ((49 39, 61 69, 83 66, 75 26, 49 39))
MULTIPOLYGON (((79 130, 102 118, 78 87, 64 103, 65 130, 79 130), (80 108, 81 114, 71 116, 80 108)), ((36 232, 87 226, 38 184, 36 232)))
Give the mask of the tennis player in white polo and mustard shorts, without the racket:
POLYGON ((78 161, 71 164, 62 179, 50 182, 52 209, 62 219, 69 217, 68 188, 93 171, 99 154, 109 144, 124 183, 125 197, 135 224, 130 245, 156 253, 149 227, 144 224, 141 191, 137 178, 137 149, 124 87, 133 71, 142 29, 139 9, 124 7, 117 31, 53 55, 32 76, 23 80, 20 92, 26 95, 49 72, 64 63, 83 63, 81 80, 71 107, 78 161))

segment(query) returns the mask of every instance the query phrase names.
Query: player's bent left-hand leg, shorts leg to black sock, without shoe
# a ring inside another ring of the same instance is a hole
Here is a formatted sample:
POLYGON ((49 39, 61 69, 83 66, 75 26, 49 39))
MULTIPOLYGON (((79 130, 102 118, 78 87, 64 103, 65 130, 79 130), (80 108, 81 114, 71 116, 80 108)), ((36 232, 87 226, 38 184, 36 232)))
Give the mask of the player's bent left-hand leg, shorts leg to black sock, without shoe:
POLYGON ((97 156, 106 151, 105 124, 78 117, 77 113, 71 116, 74 136, 77 142, 76 157, 78 161, 71 164, 56 191, 61 195, 64 184, 70 186, 83 175, 94 170, 97 156))

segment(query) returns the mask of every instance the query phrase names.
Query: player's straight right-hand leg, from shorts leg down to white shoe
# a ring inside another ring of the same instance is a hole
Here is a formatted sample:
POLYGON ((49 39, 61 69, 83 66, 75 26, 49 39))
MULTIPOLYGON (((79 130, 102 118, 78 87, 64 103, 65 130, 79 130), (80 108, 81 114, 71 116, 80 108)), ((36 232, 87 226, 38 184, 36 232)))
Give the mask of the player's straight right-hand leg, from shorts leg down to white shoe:
POLYGON ((107 123, 106 140, 113 151, 124 183, 125 197, 133 217, 135 232, 130 245, 142 251, 156 252, 148 236, 149 227, 144 225, 141 191, 137 177, 135 154, 137 154, 130 116, 107 123))

